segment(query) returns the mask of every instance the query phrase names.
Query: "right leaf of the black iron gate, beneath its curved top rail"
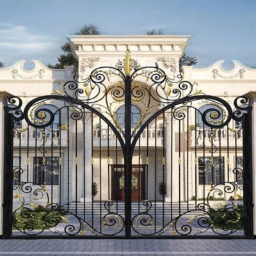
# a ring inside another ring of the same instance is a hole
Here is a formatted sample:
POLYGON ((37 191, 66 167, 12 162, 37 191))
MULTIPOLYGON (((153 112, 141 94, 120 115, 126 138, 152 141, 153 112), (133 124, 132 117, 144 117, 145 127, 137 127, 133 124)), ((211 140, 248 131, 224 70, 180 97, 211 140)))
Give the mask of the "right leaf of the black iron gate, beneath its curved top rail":
POLYGON ((132 162, 147 164, 148 193, 132 205, 133 236, 244 236, 244 122, 235 111, 223 126, 229 109, 215 100, 189 103, 154 115, 137 138, 132 162))

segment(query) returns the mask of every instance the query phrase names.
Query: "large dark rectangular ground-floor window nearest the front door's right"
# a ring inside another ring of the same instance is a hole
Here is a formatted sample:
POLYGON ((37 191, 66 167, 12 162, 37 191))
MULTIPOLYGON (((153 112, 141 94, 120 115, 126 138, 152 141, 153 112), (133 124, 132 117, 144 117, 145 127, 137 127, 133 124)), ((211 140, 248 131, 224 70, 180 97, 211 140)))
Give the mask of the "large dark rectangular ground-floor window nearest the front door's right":
POLYGON ((200 185, 224 182, 224 157, 198 157, 200 185))

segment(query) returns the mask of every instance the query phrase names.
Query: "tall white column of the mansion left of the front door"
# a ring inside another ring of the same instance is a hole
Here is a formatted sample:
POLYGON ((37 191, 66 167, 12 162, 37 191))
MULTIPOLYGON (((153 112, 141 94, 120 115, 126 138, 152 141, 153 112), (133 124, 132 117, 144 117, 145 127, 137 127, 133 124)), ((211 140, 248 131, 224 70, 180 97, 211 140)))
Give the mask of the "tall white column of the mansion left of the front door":
POLYGON ((84 134, 83 127, 81 127, 81 132, 79 134, 79 143, 81 145, 79 154, 77 158, 79 159, 78 166, 78 177, 81 177, 81 180, 78 180, 79 192, 80 192, 80 202, 92 202, 92 114, 85 113, 84 116, 84 134), (84 136, 84 143, 83 143, 84 136), (84 150, 84 152, 83 152, 84 150), (84 166, 83 166, 84 159, 84 166), (84 183, 85 182, 85 183, 84 183), (85 194, 84 194, 85 192, 85 194))

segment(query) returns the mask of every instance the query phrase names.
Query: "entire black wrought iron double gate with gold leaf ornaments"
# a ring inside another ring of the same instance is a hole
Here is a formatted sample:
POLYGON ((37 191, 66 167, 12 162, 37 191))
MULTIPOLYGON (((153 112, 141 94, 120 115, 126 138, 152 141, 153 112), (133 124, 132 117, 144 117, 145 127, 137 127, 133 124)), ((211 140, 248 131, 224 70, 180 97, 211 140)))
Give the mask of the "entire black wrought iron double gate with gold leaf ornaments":
POLYGON ((5 109, 4 238, 252 237, 251 106, 127 50, 5 109))

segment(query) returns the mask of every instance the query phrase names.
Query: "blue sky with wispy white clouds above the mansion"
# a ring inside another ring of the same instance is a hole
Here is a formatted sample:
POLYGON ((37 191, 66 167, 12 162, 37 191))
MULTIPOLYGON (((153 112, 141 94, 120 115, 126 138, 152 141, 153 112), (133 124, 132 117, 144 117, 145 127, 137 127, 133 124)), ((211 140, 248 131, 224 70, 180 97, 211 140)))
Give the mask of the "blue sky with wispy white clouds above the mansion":
POLYGON ((102 35, 191 35, 186 53, 198 68, 256 66, 256 0, 0 0, 0 61, 54 64, 84 24, 102 35))

